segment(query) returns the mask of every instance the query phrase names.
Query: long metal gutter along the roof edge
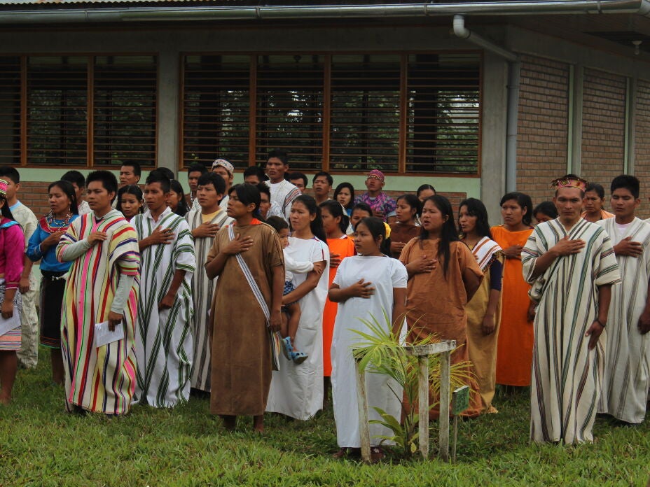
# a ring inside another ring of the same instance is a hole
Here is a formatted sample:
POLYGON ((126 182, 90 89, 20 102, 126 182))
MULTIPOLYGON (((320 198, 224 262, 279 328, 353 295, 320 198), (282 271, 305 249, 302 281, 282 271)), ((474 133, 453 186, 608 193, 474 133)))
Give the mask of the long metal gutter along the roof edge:
MULTIPOLYGON (((36 2, 35 2, 36 4, 36 2)), ((105 4, 105 3, 103 3, 105 4)), ((322 6, 160 6, 119 8, 57 8, 53 10, 5 10, 0 23, 53 24, 83 22, 154 22, 181 20, 255 20, 427 17, 438 15, 566 15, 599 13, 650 14, 650 0, 539 0, 468 3, 403 3, 386 5, 322 6)))

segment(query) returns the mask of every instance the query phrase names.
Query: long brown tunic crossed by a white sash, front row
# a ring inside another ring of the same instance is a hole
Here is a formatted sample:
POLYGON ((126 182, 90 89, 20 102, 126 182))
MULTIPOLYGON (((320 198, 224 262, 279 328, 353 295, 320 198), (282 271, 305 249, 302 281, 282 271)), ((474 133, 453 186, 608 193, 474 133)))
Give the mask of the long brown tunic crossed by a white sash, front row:
MULTIPOLYGON (((252 237, 241 255, 269 308, 273 267, 284 266, 282 245, 269 225, 235 227, 235 235, 252 237)), ((228 227, 214 239, 207 262, 228 245, 228 227)), ((212 323, 212 414, 263 414, 271 383, 270 346, 266 318, 233 255, 219 274, 210 310, 212 323)))

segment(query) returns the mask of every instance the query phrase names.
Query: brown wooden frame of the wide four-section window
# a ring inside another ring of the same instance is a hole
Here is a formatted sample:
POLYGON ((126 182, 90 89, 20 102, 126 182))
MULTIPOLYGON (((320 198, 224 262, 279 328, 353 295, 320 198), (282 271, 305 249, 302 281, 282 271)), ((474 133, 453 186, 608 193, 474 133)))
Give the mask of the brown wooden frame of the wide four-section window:
MULTIPOLYGON (((480 178, 481 176, 481 153, 482 153, 482 137, 483 132, 483 52, 480 50, 408 50, 408 51, 281 51, 281 52, 202 52, 202 51, 187 51, 179 53, 179 64, 181 68, 179 83, 179 153, 178 160, 180 162, 179 170, 186 169, 184 162, 184 102, 185 102, 185 62, 188 56, 209 56, 209 55, 237 55, 249 56, 250 64, 250 82, 249 82, 249 165, 256 164, 256 115, 257 115, 257 59, 258 56, 263 55, 321 55, 324 57, 324 80, 323 80, 323 128, 322 128, 322 170, 330 171, 330 134, 331 134, 331 67, 332 57, 336 55, 399 55, 400 57, 400 80, 399 80, 399 99, 400 99, 400 114, 399 114, 399 155, 398 155, 398 170, 385 171, 385 174, 390 176, 423 176, 423 177, 455 177, 455 178, 480 178), (471 173, 464 172, 443 172, 443 171, 406 171, 407 166, 407 131, 408 131, 408 56, 409 55, 445 55, 445 54, 474 54, 478 56, 478 130, 477 130, 477 150, 476 150, 476 171, 471 173)), ((289 154, 291 156, 291 154, 289 154)), ((219 157, 215 154, 214 157, 219 157)), ((334 171, 338 174, 338 171, 334 171)), ((350 174, 351 176, 363 175, 367 171, 345 171, 342 174, 350 174)))

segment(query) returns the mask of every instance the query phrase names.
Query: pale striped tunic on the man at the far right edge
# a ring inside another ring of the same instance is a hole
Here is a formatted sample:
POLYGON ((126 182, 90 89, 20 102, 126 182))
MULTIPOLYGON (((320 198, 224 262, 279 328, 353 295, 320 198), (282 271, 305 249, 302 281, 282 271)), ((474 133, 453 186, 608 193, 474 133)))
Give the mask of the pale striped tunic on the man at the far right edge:
POLYGON ((641 423, 646 414, 650 387, 650 334, 637 327, 648 299, 650 279, 650 225, 635 218, 625 233, 618 234, 614 218, 600 220, 614 245, 632 237, 643 247, 640 257, 618 255, 623 283, 611 289, 607 318, 607 347, 599 413, 621 421, 641 423))

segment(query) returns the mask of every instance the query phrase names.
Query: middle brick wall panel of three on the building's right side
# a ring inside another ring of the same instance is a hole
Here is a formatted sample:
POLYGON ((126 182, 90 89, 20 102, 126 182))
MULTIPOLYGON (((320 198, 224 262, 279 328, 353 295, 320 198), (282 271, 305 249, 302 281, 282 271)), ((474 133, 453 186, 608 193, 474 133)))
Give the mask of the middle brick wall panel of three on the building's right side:
POLYGON ((580 176, 609 188, 625 159, 625 78, 585 69, 582 118, 580 176))

